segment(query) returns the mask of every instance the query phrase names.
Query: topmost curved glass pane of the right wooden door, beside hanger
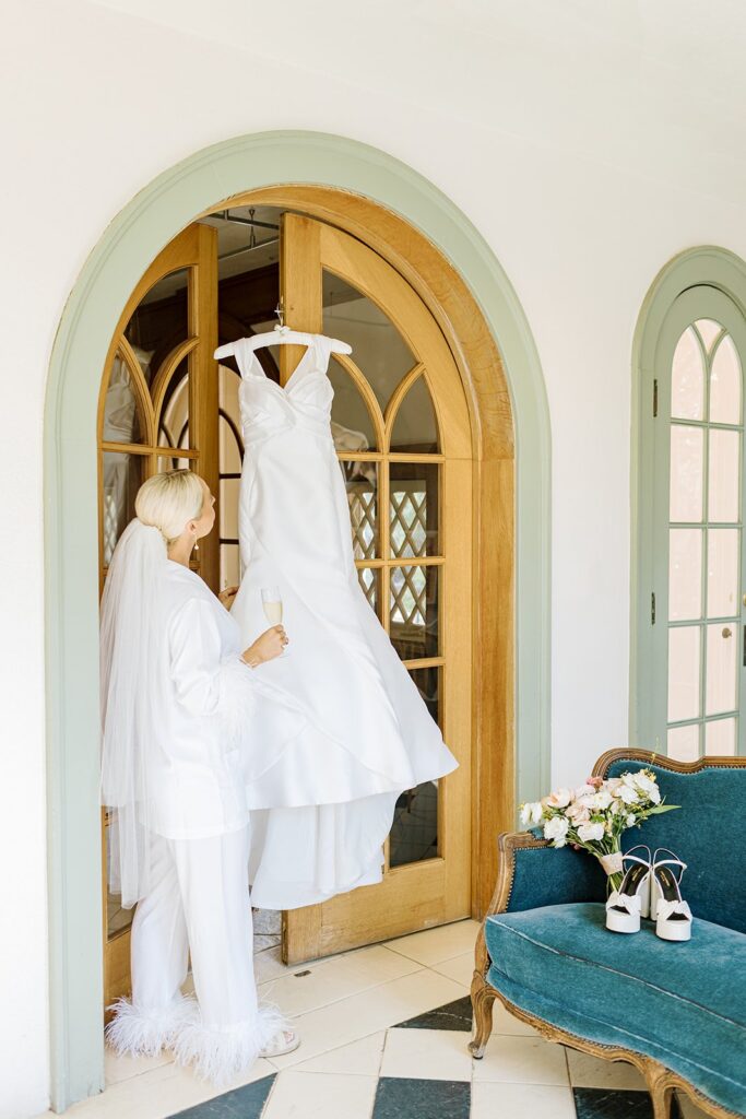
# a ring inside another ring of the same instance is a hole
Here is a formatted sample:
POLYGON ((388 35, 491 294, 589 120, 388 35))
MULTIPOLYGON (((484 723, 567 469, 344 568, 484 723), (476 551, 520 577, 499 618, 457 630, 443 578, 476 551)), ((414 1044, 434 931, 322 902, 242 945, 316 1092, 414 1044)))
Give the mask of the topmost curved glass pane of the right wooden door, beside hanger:
POLYGON ((352 360, 368 380, 383 412, 405 373, 416 364, 398 329, 361 291, 324 272, 323 332, 350 344, 352 360))

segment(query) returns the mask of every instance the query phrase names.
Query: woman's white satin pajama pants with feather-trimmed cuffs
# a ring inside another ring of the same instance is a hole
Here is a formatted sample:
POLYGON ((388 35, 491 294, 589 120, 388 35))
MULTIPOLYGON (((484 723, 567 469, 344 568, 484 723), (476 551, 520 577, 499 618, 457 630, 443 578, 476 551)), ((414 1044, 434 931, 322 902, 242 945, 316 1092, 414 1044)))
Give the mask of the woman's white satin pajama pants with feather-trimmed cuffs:
POLYGON ((257 1000, 248 890, 249 829, 151 836, 151 886, 132 922, 132 1000, 106 1036, 117 1053, 173 1050, 216 1084, 249 1066, 286 1027, 257 1000), (183 998, 189 956, 197 1002, 183 998))

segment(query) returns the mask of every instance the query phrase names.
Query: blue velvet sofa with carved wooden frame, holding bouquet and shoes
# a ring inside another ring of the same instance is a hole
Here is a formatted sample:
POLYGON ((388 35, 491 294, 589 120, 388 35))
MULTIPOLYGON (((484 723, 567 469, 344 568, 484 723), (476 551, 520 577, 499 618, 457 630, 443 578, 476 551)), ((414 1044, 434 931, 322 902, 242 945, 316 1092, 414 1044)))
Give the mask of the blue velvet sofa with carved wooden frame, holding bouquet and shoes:
POLYGON ((538 833, 499 838, 498 881, 476 943, 474 1057, 484 1054, 492 1005, 545 1037, 610 1061, 648 1082, 655 1119, 674 1089, 708 1115, 746 1115, 746 758, 680 763, 614 750, 594 773, 652 769, 679 811, 625 833, 625 847, 674 850, 691 940, 671 943, 643 921, 633 935, 605 928, 605 877, 596 859, 555 849, 538 833))

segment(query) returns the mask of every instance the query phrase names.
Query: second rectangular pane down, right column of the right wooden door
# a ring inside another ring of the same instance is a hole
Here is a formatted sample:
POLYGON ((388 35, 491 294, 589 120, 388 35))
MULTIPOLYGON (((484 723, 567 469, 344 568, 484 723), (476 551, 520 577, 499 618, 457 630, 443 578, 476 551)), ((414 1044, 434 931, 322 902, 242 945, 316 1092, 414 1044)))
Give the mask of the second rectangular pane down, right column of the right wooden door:
POLYGON ((438 653, 438 566, 391 567, 390 638, 403 660, 438 653))

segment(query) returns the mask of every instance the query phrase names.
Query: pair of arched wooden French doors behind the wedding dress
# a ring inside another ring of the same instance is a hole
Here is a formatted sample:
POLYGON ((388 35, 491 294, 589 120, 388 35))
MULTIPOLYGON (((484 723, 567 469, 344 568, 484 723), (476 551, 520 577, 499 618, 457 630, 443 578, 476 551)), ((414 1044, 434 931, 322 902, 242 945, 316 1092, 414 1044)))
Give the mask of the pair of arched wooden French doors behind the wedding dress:
MULTIPOLYGON (((102 589, 138 487, 174 467, 197 470, 220 507, 219 535, 200 542, 192 566, 216 592, 240 575, 243 446, 235 375, 213 360, 217 292, 216 231, 195 224, 158 256, 122 312, 98 410, 102 589)), ((473 445, 451 350, 381 256, 331 225, 285 213, 280 294, 291 327, 352 345, 350 357, 332 357, 329 376, 360 582, 460 762, 399 798, 380 884, 283 914, 283 958, 298 962, 470 914, 473 445)), ((278 349, 283 384, 301 354, 278 349)), ((130 988, 131 913, 105 883, 104 899, 108 1003, 130 988)))

